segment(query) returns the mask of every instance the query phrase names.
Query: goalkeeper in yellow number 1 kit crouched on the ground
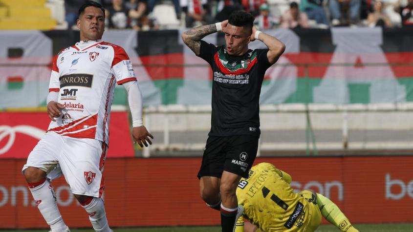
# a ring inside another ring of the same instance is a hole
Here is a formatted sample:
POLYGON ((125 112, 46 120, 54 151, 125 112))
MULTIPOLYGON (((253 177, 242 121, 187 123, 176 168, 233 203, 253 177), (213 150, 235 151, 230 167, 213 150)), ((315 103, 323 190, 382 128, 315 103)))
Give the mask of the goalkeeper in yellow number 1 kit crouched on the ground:
POLYGON ((343 232, 358 232, 328 198, 310 190, 296 193, 290 183, 291 176, 272 164, 252 167, 237 188, 244 212, 235 232, 313 232, 322 216, 343 232))

